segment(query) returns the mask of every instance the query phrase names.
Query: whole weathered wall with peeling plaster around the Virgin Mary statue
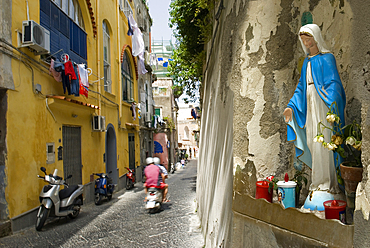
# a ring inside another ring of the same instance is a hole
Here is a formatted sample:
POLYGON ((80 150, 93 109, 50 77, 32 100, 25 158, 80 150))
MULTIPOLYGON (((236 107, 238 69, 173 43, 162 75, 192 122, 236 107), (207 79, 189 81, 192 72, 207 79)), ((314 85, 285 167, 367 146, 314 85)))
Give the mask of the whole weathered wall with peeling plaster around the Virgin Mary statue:
MULTIPOLYGON (((227 212, 231 211, 231 205, 225 201, 227 197, 254 196, 256 180, 269 175, 282 179, 286 172, 293 175, 294 150, 286 142, 282 113, 298 83, 299 65, 304 57, 297 33, 302 23, 310 19, 320 26, 327 46, 336 57, 347 96, 347 121, 361 119, 364 127, 365 173, 357 192, 361 197, 356 203, 356 215, 367 223, 370 212, 367 183, 370 155, 366 152, 370 145, 368 1, 230 0, 223 4, 225 9, 220 19, 214 20, 215 39, 207 45, 200 135, 197 192, 206 246, 230 247, 227 244, 232 239, 232 222, 227 212), (232 165, 228 162, 231 157, 232 165), (231 175, 230 166, 233 166, 231 175), (228 187, 230 180, 234 182, 233 191, 228 187), (220 190, 220 185, 226 187, 220 190)), ((245 211, 238 215, 248 216, 248 210, 245 211)), ((234 215, 234 222, 240 226, 238 215, 234 215)), ((247 234, 248 226, 238 235, 247 234)), ((355 235, 364 236, 361 231, 367 231, 355 229, 355 235)), ((262 231, 253 237, 266 236, 262 231)), ((310 235, 299 237, 309 239, 310 235)), ((324 246, 331 244, 327 240, 320 242, 324 246)))

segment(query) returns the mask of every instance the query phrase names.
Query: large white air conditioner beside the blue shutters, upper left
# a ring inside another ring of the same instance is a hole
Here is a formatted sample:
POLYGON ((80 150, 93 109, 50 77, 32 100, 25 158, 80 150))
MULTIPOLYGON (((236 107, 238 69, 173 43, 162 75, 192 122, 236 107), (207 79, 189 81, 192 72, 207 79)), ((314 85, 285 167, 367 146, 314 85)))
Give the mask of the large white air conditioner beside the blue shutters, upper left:
POLYGON ((50 52, 50 32, 40 24, 29 20, 22 23, 22 47, 30 47, 36 54, 50 52))

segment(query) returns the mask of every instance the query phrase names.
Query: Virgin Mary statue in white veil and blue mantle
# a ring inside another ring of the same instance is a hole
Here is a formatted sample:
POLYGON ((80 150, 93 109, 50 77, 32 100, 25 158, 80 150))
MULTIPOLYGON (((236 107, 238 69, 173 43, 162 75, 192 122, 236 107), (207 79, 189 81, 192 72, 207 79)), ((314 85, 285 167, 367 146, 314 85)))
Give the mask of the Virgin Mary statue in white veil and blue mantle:
MULTIPOLYGON (((287 139, 294 142, 297 159, 312 170, 310 195, 304 208, 323 211, 323 202, 333 200, 340 192, 336 168, 340 156, 325 149, 320 143, 313 142, 318 134, 317 124, 321 121, 326 126, 326 113, 334 102, 337 115, 344 120, 346 96, 340 80, 334 55, 327 49, 316 24, 307 24, 299 30, 299 40, 306 58, 303 62, 301 77, 284 111, 287 122, 287 139)), ((324 137, 331 137, 332 132, 325 129, 324 137)))

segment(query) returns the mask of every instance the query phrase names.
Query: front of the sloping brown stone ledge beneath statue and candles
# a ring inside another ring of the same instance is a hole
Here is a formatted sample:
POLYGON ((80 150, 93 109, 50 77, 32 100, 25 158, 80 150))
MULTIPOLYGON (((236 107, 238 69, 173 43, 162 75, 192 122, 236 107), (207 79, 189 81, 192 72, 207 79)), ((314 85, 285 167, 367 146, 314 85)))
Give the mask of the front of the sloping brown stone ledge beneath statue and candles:
POLYGON ((303 213, 296 208, 283 209, 278 203, 240 194, 235 194, 232 209, 234 213, 326 243, 330 247, 353 245, 354 226, 344 225, 339 220, 320 219, 312 213, 303 213))

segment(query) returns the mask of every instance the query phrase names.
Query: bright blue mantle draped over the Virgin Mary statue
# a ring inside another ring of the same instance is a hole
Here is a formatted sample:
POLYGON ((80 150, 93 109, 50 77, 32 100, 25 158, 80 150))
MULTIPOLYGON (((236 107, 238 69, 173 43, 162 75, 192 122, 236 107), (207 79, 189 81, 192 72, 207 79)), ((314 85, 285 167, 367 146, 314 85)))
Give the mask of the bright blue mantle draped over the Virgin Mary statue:
MULTIPOLYGON (((312 78, 317 93, 328 108, 331 107, 333 102, 336 102, 338 109, 333 105, 332 111, 340 117, 342 126, 344 124, 346 95, 333 54, 325 53, 318 54, 312 58, 305 58, 299 83, 294 91, 293 97, 288 103, 288 107, 293 110, 293 118, 287 123, 287 138, 288 141, 294 142, 296 157, 312 168, 311 153, 307 147, 307 139, 313 139, 314 137, 306 137, 305 128, 307 116, 306 71, 308 61, 311 61, 312 78)), ((326 116, 323 116, 323 119, 324 118, 326 118, 326 116)), ((317 125, 317 123, 313 123, 313 125, 317 125)), ((333 154, 335 166, 337 167, 341 163, 341 157, 338 156, 337 160, 337 154, 333 154)))

